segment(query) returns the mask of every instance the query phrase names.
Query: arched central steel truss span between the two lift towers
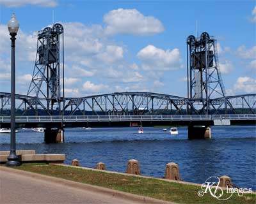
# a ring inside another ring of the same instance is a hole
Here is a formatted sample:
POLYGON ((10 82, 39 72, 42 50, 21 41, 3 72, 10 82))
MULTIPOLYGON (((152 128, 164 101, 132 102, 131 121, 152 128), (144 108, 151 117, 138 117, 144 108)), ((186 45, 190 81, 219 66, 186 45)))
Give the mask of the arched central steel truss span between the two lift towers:
POLYGON ((91 111, 96 115, 102 113, 109 115, 156 114, 172 109, 180 111, 180 106, 186 104, 186 98, 152 92, 115 92, 65 99, 68 103, 64 110, 68 110, 71 106, 71 115, 76 110, 80 110, 83 114, 91 111))

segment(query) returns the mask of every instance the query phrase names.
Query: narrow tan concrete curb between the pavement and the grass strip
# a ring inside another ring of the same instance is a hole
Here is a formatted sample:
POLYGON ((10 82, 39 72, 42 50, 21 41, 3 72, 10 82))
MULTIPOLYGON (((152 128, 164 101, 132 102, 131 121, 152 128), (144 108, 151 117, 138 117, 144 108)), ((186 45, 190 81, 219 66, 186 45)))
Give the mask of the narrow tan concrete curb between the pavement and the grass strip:
POLYGON ((32 172, 24 171, 24 170, 15 170, 13 168, 8 168, 8 167, 4 167, 4 166, 0 166, 0 171, 6 171, 8 173, 22 174, 24 176, 33 177, 35 179, 41 179, 41 180, 44 180, 44 181, 55 182, 55 183, 58 183, 58 184, 63 184, 63 185, 67 185, 69 187, 75 187, 75 188, 79 188, 79 189, 84 189, 84 190, 87 190, 87 191, 93 191, 93 192, 96 191, 98 193, 106 194, 106 195, 109 195, 109 196, 112 196, 112 197, 115 196, 117 198, 123 198, 123 199, 126 199, 126 200, 136 201, 136 202, 140 202, 140 203, 175 204, 175 203, 170 202, 170 201, 163 201, 163 200, 158 200, 156 198, 149 198, 147 196, 140 196, 140 195, 136 195, 136 194, 125 193, 125 192, 122 192, 122 191, 108 189, 106 187, 99 187, 99 186, 93 186, 93 185, 90 185, 90 184, 83 184, 83 183, 74 182, 74 181, 71 181, 71 180, 60 179, 60 178, 56 178, 56 177, 42 175, 42 174, 39 174, 39 173, 32 173, 32 172))

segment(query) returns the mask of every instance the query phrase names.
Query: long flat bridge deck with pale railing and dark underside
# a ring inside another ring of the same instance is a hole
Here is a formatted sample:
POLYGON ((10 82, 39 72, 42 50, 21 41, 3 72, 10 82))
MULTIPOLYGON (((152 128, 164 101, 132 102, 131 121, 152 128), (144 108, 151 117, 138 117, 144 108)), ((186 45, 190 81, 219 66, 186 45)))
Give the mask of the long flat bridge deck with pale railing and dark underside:
MULTIPOLYGON (((143 126, 209 124, 214 120, 230 120, 232 124, 255 124, 256 114, 241 115, 67 115, 67 116, 16 116, 16 126, 52 127, 64 126, 129 126, 131 122, 141 122, 143 126)), ((0 117, 0 127, 8 128, 10 117, 0 117)))

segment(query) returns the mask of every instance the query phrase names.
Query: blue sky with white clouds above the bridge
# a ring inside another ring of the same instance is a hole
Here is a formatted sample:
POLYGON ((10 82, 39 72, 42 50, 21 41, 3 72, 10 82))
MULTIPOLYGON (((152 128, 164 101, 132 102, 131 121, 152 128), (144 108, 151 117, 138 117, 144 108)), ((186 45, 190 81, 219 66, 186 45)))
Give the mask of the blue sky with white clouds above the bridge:
POLYGON ((218 40, 227 93, 256 92, 254 1, 0 0, 0 91, 10 92, 15 12, 17 92, 26 94, 36 33, 54 22, 65 30, 66 96, 152 91, 186 96, 186 38, 207 31, 218 40), (81 74, 82 73, 82 74, 81 74))

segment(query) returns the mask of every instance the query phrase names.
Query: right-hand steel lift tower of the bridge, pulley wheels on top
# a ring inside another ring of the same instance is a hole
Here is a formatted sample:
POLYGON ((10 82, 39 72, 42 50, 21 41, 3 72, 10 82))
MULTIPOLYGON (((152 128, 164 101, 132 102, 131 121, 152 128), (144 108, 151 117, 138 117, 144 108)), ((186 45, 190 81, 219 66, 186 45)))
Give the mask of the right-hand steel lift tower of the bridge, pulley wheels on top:
MULTIPOLYGON (((210 114, 211 98, 225 96, 225 87, 220 73, 217 42, 208 33, 187 38, 188 98, 191 103, 202 106, 200 114, 210 114)), ((188 113, 193 114, 192 107, 188 113)))

